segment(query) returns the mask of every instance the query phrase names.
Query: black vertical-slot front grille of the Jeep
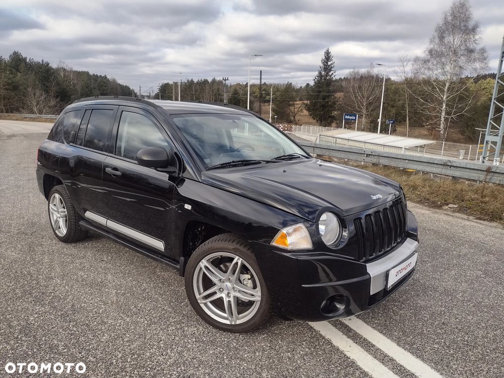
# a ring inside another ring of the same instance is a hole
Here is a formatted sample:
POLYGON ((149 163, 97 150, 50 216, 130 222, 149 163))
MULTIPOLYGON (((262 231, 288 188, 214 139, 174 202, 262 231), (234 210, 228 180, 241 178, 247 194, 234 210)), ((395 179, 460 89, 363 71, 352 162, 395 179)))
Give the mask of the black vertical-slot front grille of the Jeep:
POLYGON ((392 249, 406 233, 406 213, 402 201, 355 218, 357 259, 369 260, 392 249))

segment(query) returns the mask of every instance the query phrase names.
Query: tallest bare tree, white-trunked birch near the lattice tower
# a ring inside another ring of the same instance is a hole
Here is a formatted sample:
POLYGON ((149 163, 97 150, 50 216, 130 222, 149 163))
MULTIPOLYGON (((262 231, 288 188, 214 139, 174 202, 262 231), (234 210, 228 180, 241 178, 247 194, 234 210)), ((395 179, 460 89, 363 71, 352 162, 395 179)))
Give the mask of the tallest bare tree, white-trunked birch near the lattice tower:
POLYGON ((431 123, 443 141, 451 122, 467 114, 474 102, 468 87, 488 61, 486 49, 479 43, 479 24, 473 20, 468 1, 456 0, 436 26, 425 55, 413 62, 418 93, 410 93, 418 110, 432 115, 431 123))

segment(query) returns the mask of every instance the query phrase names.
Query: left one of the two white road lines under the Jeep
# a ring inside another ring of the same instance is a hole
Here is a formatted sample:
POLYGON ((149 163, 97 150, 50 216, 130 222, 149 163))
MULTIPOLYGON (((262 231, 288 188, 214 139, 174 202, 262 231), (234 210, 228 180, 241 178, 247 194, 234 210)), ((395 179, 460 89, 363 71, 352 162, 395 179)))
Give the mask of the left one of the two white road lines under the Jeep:
POLYGON ((328 322, 308 323, 311 327, 327 337, 334 345, 340 348, 343 353, 350 357, 363 370, 368 372, 373 378, 399 378, 389 368, 367 353, 360 346, 355 344, 348 337, 343 335, 328 322))

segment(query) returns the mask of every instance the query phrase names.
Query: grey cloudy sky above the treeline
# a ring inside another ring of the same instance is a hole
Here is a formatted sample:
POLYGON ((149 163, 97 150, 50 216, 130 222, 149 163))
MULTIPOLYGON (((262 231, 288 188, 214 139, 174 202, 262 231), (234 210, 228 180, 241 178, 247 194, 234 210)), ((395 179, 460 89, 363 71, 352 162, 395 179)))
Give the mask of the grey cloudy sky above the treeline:
MULTIPOLYGON (((470 0, 489 70, 504 34, 502 0, 470 0)), ((311 82, 323 51, 338 76, 373 62, 393 76, 399 54, 422 54, 450 0, 148 0, 0 2, 0 55, 105 74, 138 88, 182 78, 311 82)))

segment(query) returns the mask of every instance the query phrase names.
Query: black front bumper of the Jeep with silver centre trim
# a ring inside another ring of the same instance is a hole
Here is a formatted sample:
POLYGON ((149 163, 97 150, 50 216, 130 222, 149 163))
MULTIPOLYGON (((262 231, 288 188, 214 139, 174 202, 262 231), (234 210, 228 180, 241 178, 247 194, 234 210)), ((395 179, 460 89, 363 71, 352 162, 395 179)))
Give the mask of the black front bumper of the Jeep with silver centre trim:
POLYGON ((367 264, 325 252, 286 253, 260 243, 253 249, 277 310, 291 319, 316 322, 355 315, 387 298, 414 269, 390 289, 387 272, 417 253, 418 242, 406 238, 367 264))

